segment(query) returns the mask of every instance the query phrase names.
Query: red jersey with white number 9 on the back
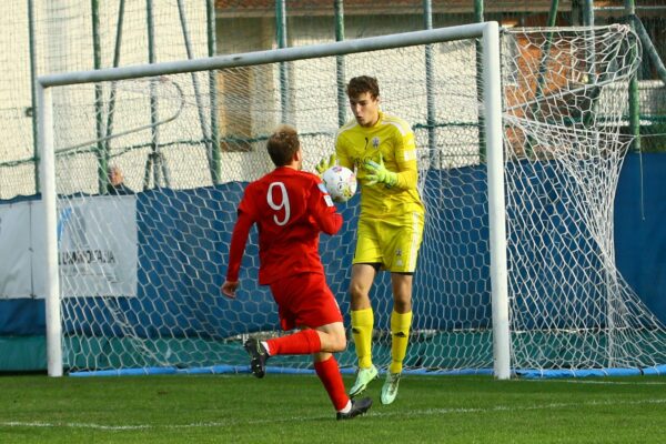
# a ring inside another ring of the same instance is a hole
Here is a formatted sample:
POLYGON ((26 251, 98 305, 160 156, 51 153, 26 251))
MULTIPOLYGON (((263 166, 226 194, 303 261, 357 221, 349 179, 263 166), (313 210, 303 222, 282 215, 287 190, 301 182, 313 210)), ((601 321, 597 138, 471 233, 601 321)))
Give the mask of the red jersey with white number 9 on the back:
POLYGON ((239 205, 229 252, 226 280, 239 280, 250 229, 259 229, 259 283, 268 285, 297 273, 324 273, 320 232, 336 233, 342 215, 321 179, 281 167, 252 182, 239 205))

